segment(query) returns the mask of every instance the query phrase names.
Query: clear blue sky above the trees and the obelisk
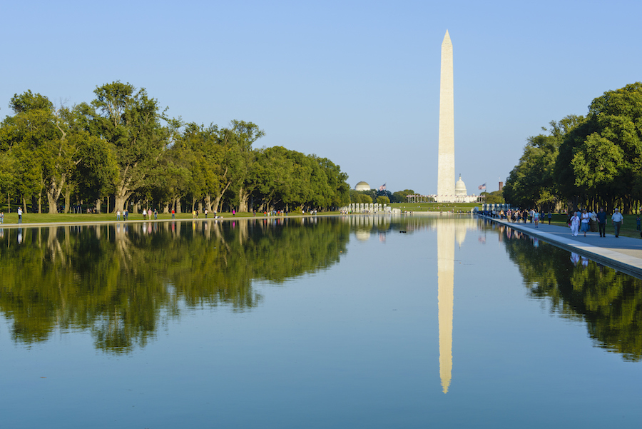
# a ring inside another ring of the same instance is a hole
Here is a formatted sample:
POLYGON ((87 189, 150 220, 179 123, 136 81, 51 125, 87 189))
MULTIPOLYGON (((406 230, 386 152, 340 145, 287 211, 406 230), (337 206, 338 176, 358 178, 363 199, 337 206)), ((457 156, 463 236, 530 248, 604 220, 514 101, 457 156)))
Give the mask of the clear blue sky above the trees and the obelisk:
POLYGON ((439 61, 454 49, 455 170, 495 191, 526 138, 642 81, 642 1, 6 1, 0 116, 111 81, 184 121, 252 121, 256 146, 437 192, 439 61))

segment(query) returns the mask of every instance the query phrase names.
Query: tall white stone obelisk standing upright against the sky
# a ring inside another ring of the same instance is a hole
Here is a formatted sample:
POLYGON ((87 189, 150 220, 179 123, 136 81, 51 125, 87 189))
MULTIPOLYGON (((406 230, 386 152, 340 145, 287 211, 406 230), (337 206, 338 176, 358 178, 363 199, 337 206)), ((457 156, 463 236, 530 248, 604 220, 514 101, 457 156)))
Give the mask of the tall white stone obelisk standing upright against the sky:
POLYGON ((454 96, 452 79, 452 42, 446 30, 442 42, 442 70, 439 84, 439 158, 437 201, 454 201, 454 96))

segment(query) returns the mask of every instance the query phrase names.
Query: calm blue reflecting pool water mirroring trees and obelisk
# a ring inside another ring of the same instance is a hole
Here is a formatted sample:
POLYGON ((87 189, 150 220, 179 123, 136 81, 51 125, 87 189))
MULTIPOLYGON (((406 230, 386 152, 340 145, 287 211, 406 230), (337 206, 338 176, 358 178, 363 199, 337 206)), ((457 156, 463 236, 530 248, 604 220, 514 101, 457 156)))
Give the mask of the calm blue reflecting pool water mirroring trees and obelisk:
POLYGON ((0 230, 2 428, 639 427, 642 282, 476 218, 0 230))

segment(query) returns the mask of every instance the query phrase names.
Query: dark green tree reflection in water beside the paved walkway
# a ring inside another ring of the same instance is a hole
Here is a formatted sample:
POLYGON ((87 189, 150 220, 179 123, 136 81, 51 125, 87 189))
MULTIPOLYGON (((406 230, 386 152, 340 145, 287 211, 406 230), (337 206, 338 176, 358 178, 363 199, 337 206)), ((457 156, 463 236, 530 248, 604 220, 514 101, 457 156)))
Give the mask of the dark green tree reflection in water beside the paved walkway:
POLYGON ((531 297, 547 298, 561 317, 585 321, 600 347, 642 359, 641 280, 511 228, 499 234, 531 297))

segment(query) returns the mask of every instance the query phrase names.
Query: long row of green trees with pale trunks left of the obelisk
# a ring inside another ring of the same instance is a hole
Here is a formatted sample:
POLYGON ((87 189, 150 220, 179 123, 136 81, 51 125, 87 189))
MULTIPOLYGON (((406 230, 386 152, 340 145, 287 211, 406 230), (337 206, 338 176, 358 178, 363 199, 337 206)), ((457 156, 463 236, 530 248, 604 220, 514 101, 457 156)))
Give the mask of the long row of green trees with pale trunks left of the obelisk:
POLYGON ((219 128, 168 118, 145 89, 120 81, 93 92, 91 103, 71 108, 31 91, 14 95, 14 114, 0 123, 0 201, 38 213, 80 203, 180 213, 350 202, 340 166, 280 146, 253 148, 265 135, 254 123, 219 128))

